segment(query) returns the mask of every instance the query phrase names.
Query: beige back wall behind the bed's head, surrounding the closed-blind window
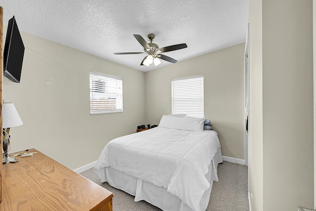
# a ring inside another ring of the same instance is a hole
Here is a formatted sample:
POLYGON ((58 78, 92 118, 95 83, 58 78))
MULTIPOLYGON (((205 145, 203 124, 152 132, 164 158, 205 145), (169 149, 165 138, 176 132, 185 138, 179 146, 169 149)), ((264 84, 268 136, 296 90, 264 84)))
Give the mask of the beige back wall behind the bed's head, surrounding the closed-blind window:
POLYGON ((218 132, 224 156, 244 160, 244 50, 237 44, 146 72, 146 122, 171 114, 171 79, 204 75, 204 116, 218 132))

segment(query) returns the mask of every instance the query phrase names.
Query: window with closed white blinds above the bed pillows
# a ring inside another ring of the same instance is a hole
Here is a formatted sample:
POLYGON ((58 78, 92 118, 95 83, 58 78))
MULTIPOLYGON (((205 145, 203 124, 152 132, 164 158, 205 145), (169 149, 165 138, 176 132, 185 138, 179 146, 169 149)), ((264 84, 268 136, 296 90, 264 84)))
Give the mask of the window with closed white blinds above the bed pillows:
POLYGON ((204 117, 204 77, 171 80, 172 114, 204 117))

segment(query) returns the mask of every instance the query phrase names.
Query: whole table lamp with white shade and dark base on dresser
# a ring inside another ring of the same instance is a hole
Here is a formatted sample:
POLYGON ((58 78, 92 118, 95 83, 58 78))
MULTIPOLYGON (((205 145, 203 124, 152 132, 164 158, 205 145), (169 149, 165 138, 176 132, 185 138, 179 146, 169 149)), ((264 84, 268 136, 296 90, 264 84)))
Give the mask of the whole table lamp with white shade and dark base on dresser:
POLYGON ((2 163, 10 163, 14 160, 14 157, 8 157, 8 146, 10 145, 9 131, 11 127, 17 127, 23 125, 23 122, 14 107, 13 103, 2 104, 2 127, 3 127, 3 152, 2 163))

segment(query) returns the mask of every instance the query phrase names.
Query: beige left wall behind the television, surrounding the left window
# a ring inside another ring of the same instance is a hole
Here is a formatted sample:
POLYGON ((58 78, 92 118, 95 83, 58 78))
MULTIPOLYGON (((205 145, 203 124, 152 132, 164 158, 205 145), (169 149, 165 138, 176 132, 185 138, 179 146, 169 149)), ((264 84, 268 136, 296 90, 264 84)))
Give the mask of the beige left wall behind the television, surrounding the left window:
POLYGON ((3 99, 14 103, 24 123, 10 130, 10 152, 36 148, 76 169, 96 161, 108 141, 144 123, 144 72, 21 35, 26 47, 21 83, 3 81, 3 99), (122 113, 89 114, 89 71, 122 77, 122 113))

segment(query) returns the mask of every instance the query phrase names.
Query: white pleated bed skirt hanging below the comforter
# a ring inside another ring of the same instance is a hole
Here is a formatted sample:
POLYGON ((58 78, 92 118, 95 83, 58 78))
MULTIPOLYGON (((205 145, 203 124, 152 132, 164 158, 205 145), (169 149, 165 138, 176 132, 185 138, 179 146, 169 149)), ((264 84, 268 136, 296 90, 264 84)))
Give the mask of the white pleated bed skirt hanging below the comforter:
MULTIPOLYGON (((213 180, 217 179, 214 173, 217 175, 217 166, 222 162, 222 152, 219 147, 212 163, 208 167, 208 172, 205 174, 205 177, 210 183, 210 187, 205 190, 200 201, 201 211, 205 211, 208 206, 213 180)), ((111 167, 98 169, 98 173, 102 174, 101 182, 107 181, 111 186, 135 196, 135 202, 145 200, 163 211, 192 211, 178 197, 168 193, 167 188, 156 186, 116 169, 112 169, 111 167)))

